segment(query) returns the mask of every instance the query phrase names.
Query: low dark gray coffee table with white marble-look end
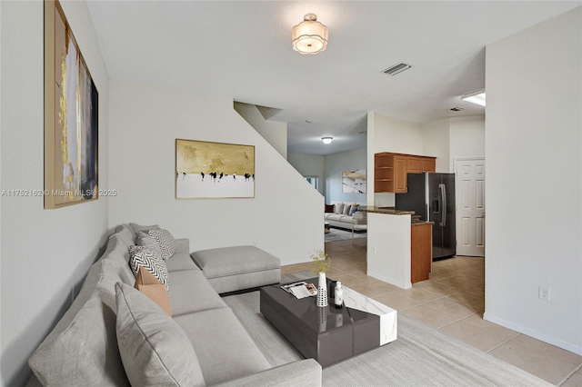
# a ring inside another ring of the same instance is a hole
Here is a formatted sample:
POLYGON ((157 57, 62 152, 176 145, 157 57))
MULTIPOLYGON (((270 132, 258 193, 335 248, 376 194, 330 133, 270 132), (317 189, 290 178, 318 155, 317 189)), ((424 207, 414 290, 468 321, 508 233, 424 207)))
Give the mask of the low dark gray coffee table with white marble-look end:
MULTIPOLYGON (((317 278, 305 281, 317 285, 317 278)), ((345 286, 342 309, 334 307, 333 298, 323 308, 316 306, 316 297, 297 300, 280 285, 261 288, 260 297, 266 319, 322 367, 396 340, 396 311, 345 286)))

